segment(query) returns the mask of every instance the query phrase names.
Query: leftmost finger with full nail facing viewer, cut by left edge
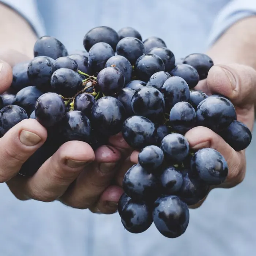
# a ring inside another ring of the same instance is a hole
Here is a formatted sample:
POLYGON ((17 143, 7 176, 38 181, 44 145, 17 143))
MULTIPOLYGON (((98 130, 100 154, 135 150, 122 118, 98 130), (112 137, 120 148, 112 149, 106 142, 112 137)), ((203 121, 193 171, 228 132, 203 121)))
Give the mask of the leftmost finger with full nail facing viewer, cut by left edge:
POLYGON ((0 139, 0 182, 14 177, 46 137, 46 129, 34 119, 23 120, 5 133, 0 139))

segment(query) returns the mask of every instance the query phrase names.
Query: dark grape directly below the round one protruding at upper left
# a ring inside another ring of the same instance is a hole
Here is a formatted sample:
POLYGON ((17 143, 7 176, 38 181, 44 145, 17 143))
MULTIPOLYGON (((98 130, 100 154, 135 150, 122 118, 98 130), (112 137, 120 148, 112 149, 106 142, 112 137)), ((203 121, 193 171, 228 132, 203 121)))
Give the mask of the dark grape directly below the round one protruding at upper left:
POLYGON ((43 92, 49 91, 51 76, 55 71, 54 63, 52 58, 45 56, 35 57, 31 60, 27 68, 30 83, 43 92))

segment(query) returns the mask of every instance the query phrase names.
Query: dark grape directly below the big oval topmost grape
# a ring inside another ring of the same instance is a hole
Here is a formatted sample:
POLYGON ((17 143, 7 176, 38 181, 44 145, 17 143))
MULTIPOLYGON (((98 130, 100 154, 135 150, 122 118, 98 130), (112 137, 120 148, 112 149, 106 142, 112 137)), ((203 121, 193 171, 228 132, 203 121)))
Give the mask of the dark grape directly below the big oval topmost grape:
POLYGON ((92 72, 101 71, 107 60, 114 56, 114 51, 109 44, 97 43, 93 45, 88 54, 88 66, 92 72))

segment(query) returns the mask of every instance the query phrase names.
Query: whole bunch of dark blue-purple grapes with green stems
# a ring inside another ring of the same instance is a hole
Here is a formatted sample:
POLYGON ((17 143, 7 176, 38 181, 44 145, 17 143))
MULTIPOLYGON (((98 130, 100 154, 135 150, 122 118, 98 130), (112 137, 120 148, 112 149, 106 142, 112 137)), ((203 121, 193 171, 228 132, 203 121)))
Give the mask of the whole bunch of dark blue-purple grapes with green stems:
POLYGON ((129 27, 118 33, 96 27, 83 44, 85 50, 68 54, 56 38, 37 40, 34 59, 15 65, 10 90, 0 97, 0 135, 26 118, 47 129, 46 142, 19 172, 32 176, 67 141, 96 150, 122 132, 140 151, 118 203, 125 229, 141 233, 154 222, 164 236, 178 237, 189 223, 188 206, 228 173, 219 152, 193 151, 185 133, 204 126, 240 151, 250 144, 251 132, 236 120, 229 99, 193 90, 214 65, 206 54, 177 61, 162 39, 142 41, 129 27))

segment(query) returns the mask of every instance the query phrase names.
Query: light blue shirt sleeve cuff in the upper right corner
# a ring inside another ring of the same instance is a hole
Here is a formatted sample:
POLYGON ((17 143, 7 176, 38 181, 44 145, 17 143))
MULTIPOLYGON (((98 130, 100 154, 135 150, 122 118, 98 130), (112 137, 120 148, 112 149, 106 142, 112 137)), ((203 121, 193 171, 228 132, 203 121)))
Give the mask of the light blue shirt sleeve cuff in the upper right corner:
POLYGON ((214 44, 219 37, 237 21, 256 15, 256 0, 232 0, 217 15, 208 46, 214 44))

